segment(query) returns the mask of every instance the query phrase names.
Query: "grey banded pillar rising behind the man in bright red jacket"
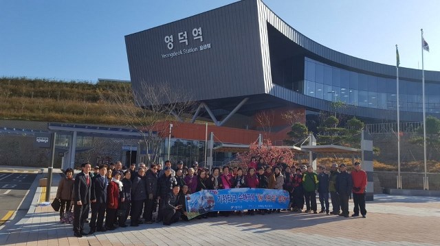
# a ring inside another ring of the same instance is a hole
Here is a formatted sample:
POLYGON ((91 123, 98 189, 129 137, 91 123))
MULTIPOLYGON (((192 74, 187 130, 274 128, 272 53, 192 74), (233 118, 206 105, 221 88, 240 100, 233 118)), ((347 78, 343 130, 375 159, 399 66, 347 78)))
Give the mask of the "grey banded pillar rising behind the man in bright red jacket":
POLYGON ((360 142, 362 151, 362 169, 366 172, 366 201, 373 201, 374 186, 373 186, 373 137, 369 132, 362 132, 362 139, 360 142))

